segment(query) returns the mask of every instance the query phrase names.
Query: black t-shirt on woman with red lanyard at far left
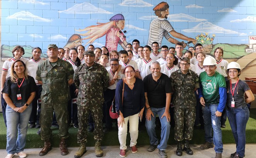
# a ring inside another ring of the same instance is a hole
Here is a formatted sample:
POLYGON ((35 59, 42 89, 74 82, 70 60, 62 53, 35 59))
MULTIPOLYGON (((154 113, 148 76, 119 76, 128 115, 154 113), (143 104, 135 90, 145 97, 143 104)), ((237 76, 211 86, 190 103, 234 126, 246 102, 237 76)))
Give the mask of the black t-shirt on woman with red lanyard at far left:
MULTIPOLYGON (((20 85, 22 79, 19 79, 18 84, 20 85)), ((27 79, 24 80, 23 84, 20 87, 17 83, 11 81, 11 77, 8 77, 5 81, 2 92, 9 94, 9 97, 12 99, 13 103, 22 103, 26 102, 29 99, 31 92, 36 91, 36 82, 33 77, 27 76, 27 79), (21 99, 17 100, 17 94, 21 94, 21 99)))

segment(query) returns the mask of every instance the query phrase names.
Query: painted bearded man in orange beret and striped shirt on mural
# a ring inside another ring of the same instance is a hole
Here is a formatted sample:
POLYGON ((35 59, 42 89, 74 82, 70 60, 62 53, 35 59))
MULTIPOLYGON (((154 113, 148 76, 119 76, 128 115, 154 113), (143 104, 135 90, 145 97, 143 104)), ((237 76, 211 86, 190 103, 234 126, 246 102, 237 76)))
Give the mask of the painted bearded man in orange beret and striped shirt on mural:
MULTIPOLYGON (((186 37, 185 35, 176 32, 171 26, 170 22, 166 20, 169 15, 168 3, 161 2, 158 5, 156 5, 156 7, 154 7, 153 10, 155 11, 155 14, 156 16, 158 16, 158 18, 155 18, 150 23, 149 38, 147 41, 147 45, 152 45, 153 42, 158 42, 159 47, 161 47, 163 37, 165 37, 166 40, 168 40, 173 44, 176 44, 179 42, 178 40, 172 38, 168 33, 170 33, 175 38, 192 41, 193 44, 197 42, 195 39, 186 37)), ((186 44, 184 44, 184 42, 183 42, 183 47, 186 47, 186 44)))

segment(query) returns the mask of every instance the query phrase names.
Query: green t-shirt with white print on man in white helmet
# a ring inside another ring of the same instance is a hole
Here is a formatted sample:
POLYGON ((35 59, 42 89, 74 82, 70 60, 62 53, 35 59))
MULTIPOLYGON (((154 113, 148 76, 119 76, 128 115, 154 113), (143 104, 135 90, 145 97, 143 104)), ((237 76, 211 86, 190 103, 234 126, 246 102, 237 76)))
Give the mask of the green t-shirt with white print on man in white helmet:
POLYGON ((206 72, 199 75, 202 84, 203 98, 207 104, 219 104, 219 87, 226 87, 224 76, 215 71, 213 76, 208 76, 206 72))

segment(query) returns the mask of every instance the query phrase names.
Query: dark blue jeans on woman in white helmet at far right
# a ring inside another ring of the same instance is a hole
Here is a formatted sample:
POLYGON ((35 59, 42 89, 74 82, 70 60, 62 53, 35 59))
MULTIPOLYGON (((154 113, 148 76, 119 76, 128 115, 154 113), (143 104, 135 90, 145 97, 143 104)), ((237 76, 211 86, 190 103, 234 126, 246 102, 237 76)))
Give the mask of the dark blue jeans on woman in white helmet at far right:
POLYGON ((236 153, 240 157, 244 156, 246 143, 245 129, 249 114, 250 112, 247 106, 237 109, 227 109, 227 118, 229 118, 229 124, 236 141, 236 153))

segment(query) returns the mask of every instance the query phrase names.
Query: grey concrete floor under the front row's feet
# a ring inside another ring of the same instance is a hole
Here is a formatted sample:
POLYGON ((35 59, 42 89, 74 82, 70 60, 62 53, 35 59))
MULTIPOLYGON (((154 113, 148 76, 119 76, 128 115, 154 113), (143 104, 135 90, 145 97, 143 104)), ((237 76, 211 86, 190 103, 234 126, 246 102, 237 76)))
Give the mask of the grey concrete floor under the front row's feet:
MULTIPOLYGON (((147 152, 148 146, 137 146, 138 152, 132 153, 131 148, 127 147, 127 158, 160 158, 158 154, 158 150, 153 152, 147 152)), ((214 148, 210 148, 208 150, 201 150, 200 145, 190 145, 191 149, 194 152, 194 155, 188 155, 183 152, 183 156, 176 156, 176 145, 168 145, 166 149, 166 153, 168 158, 214 158, 215 151, 214 148)), ((235 144, 224 144, 224 151, 222 153, 222 158, 229 158, 231 153, 236 151, 235 144)), ((256 144, 246 144, 246 158, 255 158, 256 157, 256 144)), ((119 156, 119 146, 102 146, 105 158, 120 158, 119 156)), ((69 154, 66 156, 60 155, 59 148, 53 148, 49 153, 45 156, 39 156, 38 153, 41 149, 25 149, 24 152, 27 153, 27 158, 73 158, 76 150, 78 148, 72 147, 68 148, 69 154)), ((5 158, 7 155, 5 150, 0 150, 0 157, 5 158)), ((82 156, 82 158, 95 158, 94 147, 87 147, 87 152, 82 156)), ((19 156, 14 156, 14 158, 19 158, 19 156)))

